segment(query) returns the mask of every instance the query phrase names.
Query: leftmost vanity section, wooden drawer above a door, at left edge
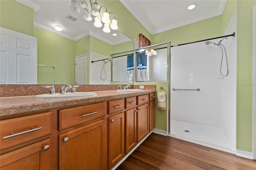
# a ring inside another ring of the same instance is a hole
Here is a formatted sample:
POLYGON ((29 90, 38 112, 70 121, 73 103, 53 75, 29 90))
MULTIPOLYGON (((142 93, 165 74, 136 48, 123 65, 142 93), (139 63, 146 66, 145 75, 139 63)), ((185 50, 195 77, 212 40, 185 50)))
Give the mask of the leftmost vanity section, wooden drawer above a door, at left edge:
POLYGON ((51 112, 0 121, 0 149, 8 150, 0 156, 0 169, 51 169, 51 125, 51 112))

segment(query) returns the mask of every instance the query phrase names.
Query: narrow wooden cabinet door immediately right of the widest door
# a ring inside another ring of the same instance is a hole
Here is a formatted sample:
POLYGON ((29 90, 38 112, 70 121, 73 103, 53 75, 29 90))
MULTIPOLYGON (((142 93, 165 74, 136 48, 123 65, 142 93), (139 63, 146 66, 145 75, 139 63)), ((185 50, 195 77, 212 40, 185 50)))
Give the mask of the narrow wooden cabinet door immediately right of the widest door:
POLYGON ((124 156, 124 112, 108 117, 108 169, 124 156))

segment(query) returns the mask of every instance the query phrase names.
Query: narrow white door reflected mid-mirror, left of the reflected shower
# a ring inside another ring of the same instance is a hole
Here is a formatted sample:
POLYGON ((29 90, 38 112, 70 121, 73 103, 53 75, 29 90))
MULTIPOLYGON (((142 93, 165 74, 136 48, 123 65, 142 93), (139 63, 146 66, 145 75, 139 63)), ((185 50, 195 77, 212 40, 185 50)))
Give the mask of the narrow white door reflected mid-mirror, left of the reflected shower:
POLYGON ((86 84, 86 65, 87 65, 87 54, 76 56, 76 84, 86 84))

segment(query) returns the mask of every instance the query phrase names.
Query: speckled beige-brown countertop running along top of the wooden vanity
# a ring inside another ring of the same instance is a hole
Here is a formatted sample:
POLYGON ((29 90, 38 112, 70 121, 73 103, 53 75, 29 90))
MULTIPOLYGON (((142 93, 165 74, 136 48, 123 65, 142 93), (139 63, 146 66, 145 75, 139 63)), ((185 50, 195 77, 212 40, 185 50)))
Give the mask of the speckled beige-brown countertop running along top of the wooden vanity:
POLYGON ((78 105, 83 103, 114 100, 154 93, 156 90, 144 89, 144 91, 140 92, 117 92, 116 90, 94 92, 97 93, 97 96, 79 99, 34 99, 35 96, 0 97, 0 116, 30 111, 40 111, 44 109, 78 105))

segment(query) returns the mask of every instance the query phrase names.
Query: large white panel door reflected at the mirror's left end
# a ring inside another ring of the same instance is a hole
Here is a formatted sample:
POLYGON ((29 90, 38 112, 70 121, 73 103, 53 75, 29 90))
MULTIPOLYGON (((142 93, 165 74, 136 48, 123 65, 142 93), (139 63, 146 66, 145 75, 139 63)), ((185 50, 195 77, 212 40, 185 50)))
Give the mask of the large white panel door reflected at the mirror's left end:
POLYGON ((36 37, 0 28, 0 83, 37 83, 36 37))

